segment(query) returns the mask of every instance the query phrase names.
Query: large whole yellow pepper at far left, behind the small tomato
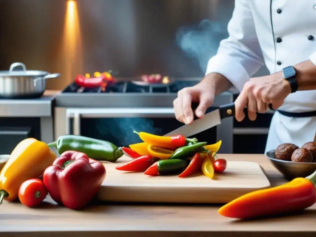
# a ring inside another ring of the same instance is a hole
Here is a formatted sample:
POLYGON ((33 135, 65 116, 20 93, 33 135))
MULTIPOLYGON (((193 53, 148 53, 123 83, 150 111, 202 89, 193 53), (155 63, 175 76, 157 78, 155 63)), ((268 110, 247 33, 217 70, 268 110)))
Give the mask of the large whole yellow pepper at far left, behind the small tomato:
POLYGON ((56 158, 46 143, 35 138, 21 141, 0 172, 0 204, 3 198, 15 200, 21 184, 28 179, 40 177, 56 158))

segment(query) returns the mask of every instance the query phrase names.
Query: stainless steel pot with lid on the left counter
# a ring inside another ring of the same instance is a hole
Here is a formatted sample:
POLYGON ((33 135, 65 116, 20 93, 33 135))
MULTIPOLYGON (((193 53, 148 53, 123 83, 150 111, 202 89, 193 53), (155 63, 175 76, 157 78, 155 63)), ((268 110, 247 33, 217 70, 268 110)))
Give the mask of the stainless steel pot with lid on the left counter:
POLYGON ((13 63, 9 71, 0 71, 0 97, 7 99, 41 97, 46 89, 46 79, 59 76, 59 73, 26 70, 24 64, 13 63))

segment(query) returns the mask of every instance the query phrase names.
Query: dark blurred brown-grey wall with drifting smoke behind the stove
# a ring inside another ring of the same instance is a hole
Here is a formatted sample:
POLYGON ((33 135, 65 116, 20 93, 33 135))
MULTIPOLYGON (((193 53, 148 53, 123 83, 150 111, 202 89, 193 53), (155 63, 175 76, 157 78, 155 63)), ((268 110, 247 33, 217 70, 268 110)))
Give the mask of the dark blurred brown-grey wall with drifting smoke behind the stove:
MULTIPOLYGON (((62 89, 78 73, 117 70, 119 76, 161 73, 203 76, 227 37, 234 0, 77 0, 83 69, 65 76, 66 0, 0 0, 0 69, 60 72, 47 83, 62 89)), ((77 70, 77 71, 76 71, 77 70)))

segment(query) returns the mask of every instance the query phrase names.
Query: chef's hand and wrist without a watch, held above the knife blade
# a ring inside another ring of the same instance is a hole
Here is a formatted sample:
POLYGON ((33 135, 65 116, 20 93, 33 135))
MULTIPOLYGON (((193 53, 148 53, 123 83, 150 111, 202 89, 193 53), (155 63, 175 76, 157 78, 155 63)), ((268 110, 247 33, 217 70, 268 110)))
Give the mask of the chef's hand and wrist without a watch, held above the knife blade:
POLYGON ((226 77, 210 73, 198 84, 179 90, 178 97, 173 101, 176 119, 185 124, 193 121, 192 102, 199 102, 195 115, 202 118, 206 109, 212 105, 214 96, 228 90, 230 85, 226 77))

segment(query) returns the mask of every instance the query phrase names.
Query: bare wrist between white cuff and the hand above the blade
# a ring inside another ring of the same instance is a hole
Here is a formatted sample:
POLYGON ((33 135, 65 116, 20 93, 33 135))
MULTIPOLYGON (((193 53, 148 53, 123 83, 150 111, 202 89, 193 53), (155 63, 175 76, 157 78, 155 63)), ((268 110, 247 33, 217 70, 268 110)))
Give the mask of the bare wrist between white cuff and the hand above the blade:
POLYGON ((219 73, 210 73, 206 75, 200 83, 206 83, 206 86, 215 88, 215 95, 219 95, 229 90, 232 84, 228 79, 219 73))

